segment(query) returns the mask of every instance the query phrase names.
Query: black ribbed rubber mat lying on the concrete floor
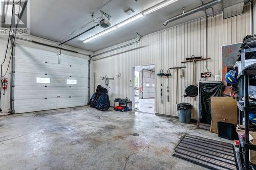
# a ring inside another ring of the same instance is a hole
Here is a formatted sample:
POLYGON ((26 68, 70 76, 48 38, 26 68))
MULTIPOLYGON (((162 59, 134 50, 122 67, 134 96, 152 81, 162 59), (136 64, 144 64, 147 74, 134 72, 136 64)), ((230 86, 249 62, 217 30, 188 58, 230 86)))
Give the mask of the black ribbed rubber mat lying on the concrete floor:
POLYGON ((175 148, 173 156, 209 169, 237 169, 232 144, 199 136, 186 135, 175 148))

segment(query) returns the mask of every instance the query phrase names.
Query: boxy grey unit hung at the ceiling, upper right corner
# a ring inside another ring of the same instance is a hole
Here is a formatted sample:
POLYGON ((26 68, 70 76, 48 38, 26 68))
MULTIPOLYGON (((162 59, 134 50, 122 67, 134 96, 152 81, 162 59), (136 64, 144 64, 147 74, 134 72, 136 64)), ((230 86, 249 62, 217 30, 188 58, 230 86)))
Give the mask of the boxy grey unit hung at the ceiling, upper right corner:
POLYGON ((223 0, 223 19, 243 14, 244 0, 223 0))

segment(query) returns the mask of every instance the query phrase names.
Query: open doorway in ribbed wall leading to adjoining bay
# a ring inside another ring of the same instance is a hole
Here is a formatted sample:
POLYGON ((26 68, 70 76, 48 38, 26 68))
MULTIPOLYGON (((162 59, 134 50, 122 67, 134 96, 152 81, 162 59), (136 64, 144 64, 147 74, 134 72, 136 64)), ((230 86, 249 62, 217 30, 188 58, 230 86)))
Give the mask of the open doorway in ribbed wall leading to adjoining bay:
POLYGON ((134 68, 135 110, 155 113, 155 65, 134 68))

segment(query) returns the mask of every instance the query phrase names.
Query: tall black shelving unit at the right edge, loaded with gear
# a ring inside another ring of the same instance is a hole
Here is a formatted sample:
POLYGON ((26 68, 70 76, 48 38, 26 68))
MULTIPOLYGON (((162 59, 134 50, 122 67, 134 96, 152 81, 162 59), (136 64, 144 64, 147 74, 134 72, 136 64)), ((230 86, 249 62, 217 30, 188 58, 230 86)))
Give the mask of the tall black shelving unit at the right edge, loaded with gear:
POLYGON ((239 124, 243 125, 243 117, 245 124, 245 137, 244 139, 239 135, 239 152, 237 153, 237 159, 239 168, 249 170, 252 169, 249 161, 249 150, 256 151, 256 145, 253 145, 249 141, 249 112, 256 112, 256 107, 253 107, 249 103, 249 76, 256 75, 256 63, 244 67, 245 65, 245 55, 246 53, 256 52, 256 48, 242 49, 241 59, 242 59, 242 71, 238 75, 239 81, 239 97, 244 96, 244 101, 238 101, 237 106, 239 108, 239 124))

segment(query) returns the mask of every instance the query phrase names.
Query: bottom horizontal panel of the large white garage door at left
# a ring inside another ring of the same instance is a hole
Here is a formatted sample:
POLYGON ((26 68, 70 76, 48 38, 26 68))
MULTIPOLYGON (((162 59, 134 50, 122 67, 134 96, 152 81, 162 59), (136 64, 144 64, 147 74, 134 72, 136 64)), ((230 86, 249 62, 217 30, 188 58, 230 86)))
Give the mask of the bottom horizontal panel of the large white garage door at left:
POLYGON ((56 99, 28 99, 15 101, 15 113, 25 113, 40 110, 60 109, 67 107, 83 106, 87 102, 87 98, 56 98, 56 99), (37 106, 36 108, 34 106, 37 106))

